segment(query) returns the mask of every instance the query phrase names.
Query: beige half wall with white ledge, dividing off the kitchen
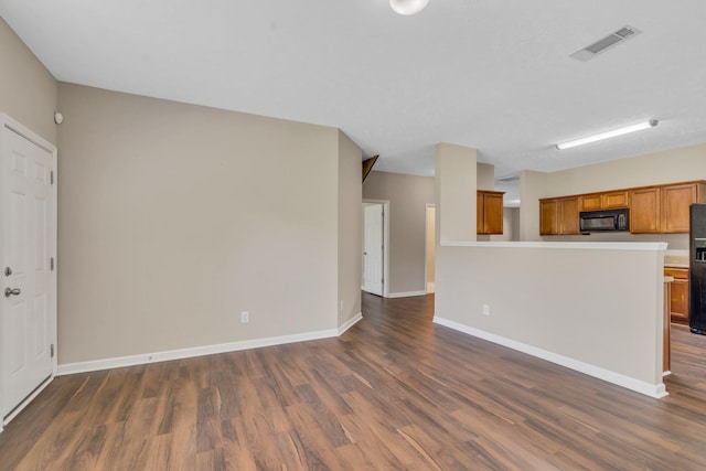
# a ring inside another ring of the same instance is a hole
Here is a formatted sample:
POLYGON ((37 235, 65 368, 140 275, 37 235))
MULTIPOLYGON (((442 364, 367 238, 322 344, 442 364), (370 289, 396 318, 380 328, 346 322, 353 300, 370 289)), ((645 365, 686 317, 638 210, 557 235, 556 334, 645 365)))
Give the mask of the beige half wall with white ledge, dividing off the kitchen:
POLYGON ((662 384, 662 264, 659 251, 578 244, 441 246, 435 320, 591 365, 586 373, 646 394, 662 384))

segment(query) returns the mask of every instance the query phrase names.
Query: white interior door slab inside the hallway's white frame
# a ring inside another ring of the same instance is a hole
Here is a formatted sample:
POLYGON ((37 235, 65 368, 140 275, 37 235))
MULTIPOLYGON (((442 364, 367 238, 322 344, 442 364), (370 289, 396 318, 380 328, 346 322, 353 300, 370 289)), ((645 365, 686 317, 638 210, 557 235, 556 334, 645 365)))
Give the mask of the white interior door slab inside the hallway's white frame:
POLYGON ((363 290, 383 296, 383 205, 363 207, 363 290))

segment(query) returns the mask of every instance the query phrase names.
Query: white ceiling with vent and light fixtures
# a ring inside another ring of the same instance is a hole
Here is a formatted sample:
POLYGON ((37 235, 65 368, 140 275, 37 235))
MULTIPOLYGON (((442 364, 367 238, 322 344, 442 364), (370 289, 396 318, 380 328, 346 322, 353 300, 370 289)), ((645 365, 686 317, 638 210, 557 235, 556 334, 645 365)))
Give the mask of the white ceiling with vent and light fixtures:
POLYGON ((496 178, 706 142, 704 0, 430 0, 411 17, 387 0, 0 0, 0 15, 58 81, 338 127, 376 170, 431 175, 436 142, 478 149, 496 178), (628 24, 643 33, 570 57, 628 24))

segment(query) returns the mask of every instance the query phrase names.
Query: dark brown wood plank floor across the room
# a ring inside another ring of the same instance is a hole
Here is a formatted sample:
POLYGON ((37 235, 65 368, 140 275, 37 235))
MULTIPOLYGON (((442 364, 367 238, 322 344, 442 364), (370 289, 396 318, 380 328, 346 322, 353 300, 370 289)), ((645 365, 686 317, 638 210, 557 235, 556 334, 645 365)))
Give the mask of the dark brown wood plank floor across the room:
MULTIPOLYGON (((56 378, 2 470, 704 470, 706 336, 652 399, 363 295, 340 339, 56 378)), ((597 345, 600 347, 600 345, 597 345)))

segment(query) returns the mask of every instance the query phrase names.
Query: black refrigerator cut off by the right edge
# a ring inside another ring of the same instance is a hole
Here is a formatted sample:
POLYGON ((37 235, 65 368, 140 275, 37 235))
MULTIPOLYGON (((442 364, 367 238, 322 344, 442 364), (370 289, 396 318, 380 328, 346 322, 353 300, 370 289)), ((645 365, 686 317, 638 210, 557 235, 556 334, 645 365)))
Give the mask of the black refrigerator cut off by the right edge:
POLYGON ((692 204, 689 227, 688 327, 706 335, 706 204, 692 204))

